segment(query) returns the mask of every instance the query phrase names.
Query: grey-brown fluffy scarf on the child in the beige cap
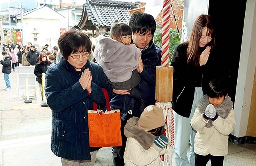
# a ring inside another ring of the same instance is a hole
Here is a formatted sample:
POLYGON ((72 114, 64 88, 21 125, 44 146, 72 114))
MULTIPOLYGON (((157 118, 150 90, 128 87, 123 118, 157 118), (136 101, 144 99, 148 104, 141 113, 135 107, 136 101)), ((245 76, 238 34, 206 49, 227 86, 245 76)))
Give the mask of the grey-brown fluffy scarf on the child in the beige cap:
POLYGON ((142 130, 138 127, 139 118, 133 117, 127 121, 127 124, 124 126, 124 135, 134 138, 140 143, 142 148, 148 150, 154 143, 156 136, 150 134, 149 132, 142 130))

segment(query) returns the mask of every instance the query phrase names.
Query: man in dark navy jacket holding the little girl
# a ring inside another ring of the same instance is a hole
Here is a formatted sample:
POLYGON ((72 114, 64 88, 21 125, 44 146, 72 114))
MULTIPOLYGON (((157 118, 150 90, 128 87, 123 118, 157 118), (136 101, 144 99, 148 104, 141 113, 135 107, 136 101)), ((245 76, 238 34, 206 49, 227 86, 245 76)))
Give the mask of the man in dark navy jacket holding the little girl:
MULTIPOLYGON (((132 29, 132 40, 141 50, 141 58, 138 61, 137 71, 140 74, 140 89, 145 95, 145 106, 155 105, 156 66, 161 65, 161 49, 153 43, 153 35, 156 30, 156 21, 153 16, 146 13, 134 12, 130 18, 129 26, 132 29)), ((121 134, 122 146, 114 147, 114 166, 124 166, 124 150, 126 136, 124 126, 132 116, 140 117, 142 112, 138 111, 138 102, 128 95, 129 90, 114 90, 115 93, 110 105, 113 109, 121 110, 121 134)))

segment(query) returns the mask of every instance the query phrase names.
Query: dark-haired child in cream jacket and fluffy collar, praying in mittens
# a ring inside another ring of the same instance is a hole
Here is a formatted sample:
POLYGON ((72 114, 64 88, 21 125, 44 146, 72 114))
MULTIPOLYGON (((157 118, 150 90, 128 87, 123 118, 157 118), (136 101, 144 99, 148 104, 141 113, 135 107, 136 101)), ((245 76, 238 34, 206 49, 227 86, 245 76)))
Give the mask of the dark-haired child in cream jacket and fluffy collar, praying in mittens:
POLYGON ((223 79, 210 80, 206 95, 198 102, 191 126, 197 133, 195 166, 223 166, 228 154, 228 135, 236 124, 233 103, 223 79))

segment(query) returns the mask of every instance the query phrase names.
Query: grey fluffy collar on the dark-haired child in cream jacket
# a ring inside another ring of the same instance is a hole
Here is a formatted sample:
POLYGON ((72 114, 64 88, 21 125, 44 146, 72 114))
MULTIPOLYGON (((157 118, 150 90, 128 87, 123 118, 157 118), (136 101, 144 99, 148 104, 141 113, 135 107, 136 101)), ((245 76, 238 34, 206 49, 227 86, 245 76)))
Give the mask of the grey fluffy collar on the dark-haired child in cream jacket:
MULTIPOLYGON (((210 102, 209 102, 208 96, 204 95, 197 104, 197 108, 199 112, 204 113, 204 110, 209 104, 210 102)), ((233 108, 233 102, 231 101, 231 98, 229 96, 227 96, 227 98, 224 99, 222 104, 215 107, 218 116, 222 117, 223 119, 227 118, 232 108, 233 108)), ((206 124, 206 127, 207 128, 212 127, 212 120, 209 119, 208 123, 206 124)))

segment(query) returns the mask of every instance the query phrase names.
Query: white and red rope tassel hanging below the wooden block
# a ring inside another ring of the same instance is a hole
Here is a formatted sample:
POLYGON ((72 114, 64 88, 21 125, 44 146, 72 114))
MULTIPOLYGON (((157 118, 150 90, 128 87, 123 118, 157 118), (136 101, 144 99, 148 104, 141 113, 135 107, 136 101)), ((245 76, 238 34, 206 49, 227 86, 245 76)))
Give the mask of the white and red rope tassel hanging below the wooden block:
POLYGON ((168 145, 166 146, 166 153, 160 156, 162 159, 162 166, 172 165, 172 146, 174 145, 174 116, 171 102, 156 102, 156 106, 163 108, 164 118, 166 119, 166 134, 168 138, 168 145))

